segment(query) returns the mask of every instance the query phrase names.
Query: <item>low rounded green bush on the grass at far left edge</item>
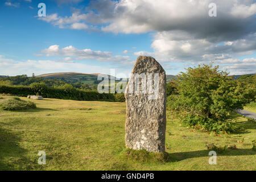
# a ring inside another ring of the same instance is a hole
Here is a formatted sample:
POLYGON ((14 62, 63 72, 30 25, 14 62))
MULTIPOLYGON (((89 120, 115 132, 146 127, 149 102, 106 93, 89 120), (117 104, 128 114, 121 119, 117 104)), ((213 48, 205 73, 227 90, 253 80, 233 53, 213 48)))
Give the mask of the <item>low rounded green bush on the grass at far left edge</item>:
POLYGON ((18 97, 11 98, 0 104, 1 110, 24 110, 24 109, 35 109, 36 105, 31 101, 23 101, 18 97))

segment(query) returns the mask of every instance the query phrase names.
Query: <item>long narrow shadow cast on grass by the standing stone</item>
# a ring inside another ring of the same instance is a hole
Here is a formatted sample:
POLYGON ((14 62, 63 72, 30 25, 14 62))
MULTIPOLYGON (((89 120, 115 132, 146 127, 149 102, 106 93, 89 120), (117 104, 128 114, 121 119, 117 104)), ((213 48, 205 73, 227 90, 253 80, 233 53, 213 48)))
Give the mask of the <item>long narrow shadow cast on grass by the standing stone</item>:
MULTIPOLYGON (((199 151, 189 151, 189 152, 176 152, 170 153, 170 162, 179 162, 180 160, 200 158, 209 156, 209 150, 199 150, 199 151)), ((240 156, 240 155, 255 155, 256 152, 251 149, 236 149, 236 150, 226 150, 217 156, 240 156)), ((210 157, 210 156, 209 156, 210 157)))

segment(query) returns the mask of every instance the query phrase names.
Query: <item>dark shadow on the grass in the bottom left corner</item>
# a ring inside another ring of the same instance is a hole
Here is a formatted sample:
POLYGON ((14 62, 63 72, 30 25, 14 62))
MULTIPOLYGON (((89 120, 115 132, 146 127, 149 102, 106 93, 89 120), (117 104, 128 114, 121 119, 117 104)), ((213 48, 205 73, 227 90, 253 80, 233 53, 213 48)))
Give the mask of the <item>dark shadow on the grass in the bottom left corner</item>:
POLYGON ((32 169, 28 167, 32 165, 27 164, 34 162, 26 158, 27 150, 19 146, 19 141, 17 134, 2 129, 0 125, 0 171, 32 169))

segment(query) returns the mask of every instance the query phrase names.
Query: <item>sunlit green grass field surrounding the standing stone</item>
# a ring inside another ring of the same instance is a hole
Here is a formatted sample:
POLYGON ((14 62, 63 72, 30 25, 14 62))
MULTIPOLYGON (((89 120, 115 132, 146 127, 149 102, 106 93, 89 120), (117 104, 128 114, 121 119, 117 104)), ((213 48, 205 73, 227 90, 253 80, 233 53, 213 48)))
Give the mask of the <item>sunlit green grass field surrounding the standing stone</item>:
POLYGON ((125 103, 33 102, 37 109, 0 111, 0 170, 256 170, 256 123, 242 117, 236 125, 244 132, 214 136, 189 130, 167 114, 170 162, 141 162, 126 158, 125 103), (210 165, 207 143, 237 149, 217 154, 217 164, 210 165), (39 151, 46 152, 46 165, 38 164, 39 151))

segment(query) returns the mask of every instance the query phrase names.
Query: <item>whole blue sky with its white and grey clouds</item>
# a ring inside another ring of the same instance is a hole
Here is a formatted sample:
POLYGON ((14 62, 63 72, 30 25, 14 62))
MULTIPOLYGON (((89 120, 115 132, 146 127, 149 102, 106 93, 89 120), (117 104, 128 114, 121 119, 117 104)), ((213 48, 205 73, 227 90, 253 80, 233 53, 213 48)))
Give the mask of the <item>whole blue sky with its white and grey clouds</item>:
POLYGON ((255 73, 255 15, 250 0, 3 0, 0 75, 128 75, 138 55, 155 57, 170 75, 210 61, 230 74, 255 73), (40 2, 46 17, 38 17, 40 2))

